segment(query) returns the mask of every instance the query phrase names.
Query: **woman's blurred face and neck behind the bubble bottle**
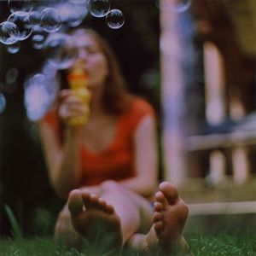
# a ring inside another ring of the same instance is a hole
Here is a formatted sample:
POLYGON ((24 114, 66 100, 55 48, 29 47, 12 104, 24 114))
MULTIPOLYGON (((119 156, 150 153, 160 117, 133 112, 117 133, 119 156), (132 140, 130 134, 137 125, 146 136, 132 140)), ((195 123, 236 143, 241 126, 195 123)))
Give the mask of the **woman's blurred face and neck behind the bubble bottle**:
POLYGON ((70 70, 79 65, 89 76, 89 89, 101 86, 108 76, 108 61, 96 40, 89 34, 73 35, 73 48, 78 58, 70 70))

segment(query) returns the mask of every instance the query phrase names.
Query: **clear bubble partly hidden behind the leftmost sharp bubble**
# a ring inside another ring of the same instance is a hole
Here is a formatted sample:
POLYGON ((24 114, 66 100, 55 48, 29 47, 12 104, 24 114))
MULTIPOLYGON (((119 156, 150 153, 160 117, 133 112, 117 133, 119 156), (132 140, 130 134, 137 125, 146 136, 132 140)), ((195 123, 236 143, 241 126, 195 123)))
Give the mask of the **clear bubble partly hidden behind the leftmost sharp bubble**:
POLYGON ((20 11, 15 12, 9 16, 7 21, 15 23, 15 25, 18 27, 19 36, 17 37, 17 40, 25 40, 26 38, 29 38, 32 34, 29 15, 27 13, 20 11))

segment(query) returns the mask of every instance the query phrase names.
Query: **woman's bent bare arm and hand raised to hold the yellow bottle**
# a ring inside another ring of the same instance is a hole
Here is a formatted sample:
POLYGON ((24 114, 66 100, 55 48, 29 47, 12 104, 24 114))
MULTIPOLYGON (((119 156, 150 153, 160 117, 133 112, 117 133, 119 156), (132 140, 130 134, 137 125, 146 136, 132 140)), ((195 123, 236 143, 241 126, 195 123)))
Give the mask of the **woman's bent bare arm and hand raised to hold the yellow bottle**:
POLYGON ((67 199, 72 189, 79 186, 81 167, 79 147, 81 142, 81 125, 68 125, 68 119, 84 114, 84 105, 73 95, 72 90, 61 90, 58 116, 66 125, 63 142, 58 131, 48 123, 40 121, 39 131, 43 143, 45 159, 48 164, 49 180, 58 195, 67 199))

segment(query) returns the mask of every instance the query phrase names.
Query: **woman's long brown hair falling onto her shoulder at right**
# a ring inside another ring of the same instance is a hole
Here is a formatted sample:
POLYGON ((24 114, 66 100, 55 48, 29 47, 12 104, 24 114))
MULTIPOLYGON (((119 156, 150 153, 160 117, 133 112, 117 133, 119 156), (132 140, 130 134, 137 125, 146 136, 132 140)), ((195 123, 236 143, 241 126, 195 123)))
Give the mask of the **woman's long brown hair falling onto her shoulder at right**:
MULTIPOLYGON (((75 29, 70 33, 73 35, 86 34, 90 35, 96 41, 108 61, 108 76, 106 78, 106 86, 102 96, 102 106, 108 113, 123 113, 130 106, 131 96, 126 90, 125 79, 120 71, 119 63, 113 54, 113 50, 109 44, 97 32, 88 28, 75 29)), ((61 88, 67 87, 67 72, 60 71, 61 88)))

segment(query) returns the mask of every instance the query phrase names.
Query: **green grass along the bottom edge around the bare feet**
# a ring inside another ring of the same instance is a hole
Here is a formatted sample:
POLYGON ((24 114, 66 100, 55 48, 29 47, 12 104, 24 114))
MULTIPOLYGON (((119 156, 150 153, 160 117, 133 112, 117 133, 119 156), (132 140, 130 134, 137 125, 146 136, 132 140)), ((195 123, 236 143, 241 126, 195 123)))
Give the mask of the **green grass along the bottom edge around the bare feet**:
MULTIPOLYGON (((191 251, 195 256, 244 256, 256 255, 256 236, 252 233, 240 234, 220 234, 215 236, 191 234, 187 236, 191 251)), ((91 251, 79 252, 74 248, 57 247, 52 237, 32 237, 30 239, 7 238, 0 241, 1 256, 51 256, 51 255, 80 255, 80 256, 103 256, 91 251)), ((125 256, 136 255, 125 251, 125 256)), ((107 254, 106 254, 107 256, 107 254)))

